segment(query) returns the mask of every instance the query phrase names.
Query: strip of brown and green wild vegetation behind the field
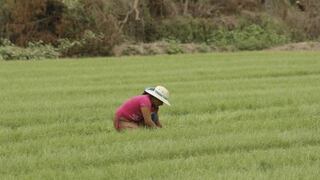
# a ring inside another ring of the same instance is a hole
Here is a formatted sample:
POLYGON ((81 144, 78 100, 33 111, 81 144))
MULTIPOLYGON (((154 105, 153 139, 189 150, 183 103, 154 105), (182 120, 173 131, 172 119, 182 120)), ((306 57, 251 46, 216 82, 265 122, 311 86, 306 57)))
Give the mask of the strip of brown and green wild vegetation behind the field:
POLYGON ((303 9, 293 0, 0 0, 0 38, 10 41, 0 43, 0 58, 172 54, 188 51, 185 44, 196 52, 260 50, 318 41, 320 2, 300 2, 303 9), (44 55, 33 56, 30 43, 44 55))

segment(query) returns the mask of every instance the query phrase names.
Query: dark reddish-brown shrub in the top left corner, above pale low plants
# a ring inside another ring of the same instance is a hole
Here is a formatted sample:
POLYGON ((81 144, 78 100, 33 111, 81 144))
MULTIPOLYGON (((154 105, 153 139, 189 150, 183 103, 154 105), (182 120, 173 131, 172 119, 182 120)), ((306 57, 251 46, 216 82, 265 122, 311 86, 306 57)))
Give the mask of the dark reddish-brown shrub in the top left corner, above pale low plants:
POLYGON ((60 32, 64 4, 60 0, 1 0, 1 38, 26 46, 30 41, 53 43, 60 32))

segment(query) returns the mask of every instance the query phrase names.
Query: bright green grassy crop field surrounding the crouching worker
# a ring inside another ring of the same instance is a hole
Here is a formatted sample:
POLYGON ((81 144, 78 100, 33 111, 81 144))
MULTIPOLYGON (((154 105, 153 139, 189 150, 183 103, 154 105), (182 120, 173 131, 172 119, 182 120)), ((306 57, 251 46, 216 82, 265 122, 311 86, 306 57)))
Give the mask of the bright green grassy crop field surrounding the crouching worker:
POLYGON ((318 179, 320 52, 0 61, 0 179, 318 179), (164 85, 159 130, 115 109, 164 85))

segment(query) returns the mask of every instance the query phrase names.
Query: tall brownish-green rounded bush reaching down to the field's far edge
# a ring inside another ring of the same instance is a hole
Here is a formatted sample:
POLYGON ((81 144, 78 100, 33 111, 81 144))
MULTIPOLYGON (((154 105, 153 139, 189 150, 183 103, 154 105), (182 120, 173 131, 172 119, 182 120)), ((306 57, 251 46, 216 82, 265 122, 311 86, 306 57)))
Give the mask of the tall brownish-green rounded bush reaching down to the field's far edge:
MULTIPOLYGON (((108 12, 107 2, 103 0, 80 0, 77 6, 69 9, 69 26, 65 41, 69 43, 64 56, 110 55, 112 48, 122 39, 117 19, 108 12), (69 41, 69 42, 67 42, 69 41)), ((67 23, 67 22, 66 22, 67 23)))

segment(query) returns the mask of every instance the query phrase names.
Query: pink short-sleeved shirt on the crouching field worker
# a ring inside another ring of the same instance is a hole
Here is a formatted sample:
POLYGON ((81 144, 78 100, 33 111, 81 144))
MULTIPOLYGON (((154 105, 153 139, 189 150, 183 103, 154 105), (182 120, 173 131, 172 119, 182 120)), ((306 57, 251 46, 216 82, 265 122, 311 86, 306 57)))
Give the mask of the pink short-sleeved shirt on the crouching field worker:
POLYGON ((123 117, 129 121, 142 121, 143 115, 141 107, 147 107, 152 112, 152 104, 149 95, 134 96, 131 99, 124 102, 117 109, 117 117, 123 117))

